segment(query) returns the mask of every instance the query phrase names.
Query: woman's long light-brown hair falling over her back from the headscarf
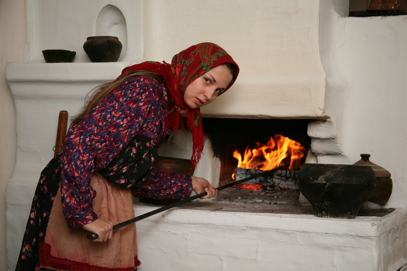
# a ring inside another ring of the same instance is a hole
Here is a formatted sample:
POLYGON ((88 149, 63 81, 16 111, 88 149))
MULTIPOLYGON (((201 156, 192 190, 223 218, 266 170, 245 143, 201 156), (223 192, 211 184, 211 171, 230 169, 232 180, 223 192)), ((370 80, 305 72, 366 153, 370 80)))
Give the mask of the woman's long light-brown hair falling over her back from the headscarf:
MULTIPOLYGON (((151 72, 149 70, 134 70, 132 72, 120 75, 116 80, 112 82, 99 85, 92 89, 86 95, 85 104, 83 105, 78 114, 72 116, 72 121, 69 125, 69 129, 72 129, 75 125, 81 122, 81 120, 83 120, 85 116, 88 115, 90 111, 92 111, 92 109, 94 109, 98 104, 103 102, 107 95, 116 90, 124 81, 134 76, 151 76, 154 79, 156 79, 159 83, 164 83, 162 76, 156 72, 151 72)), ((160 95, 160 97, 164 100, 163 93, 158 93, 158 95, 160 95)), ((169 98, 166 101, 166 103, 168 105, 168 111, 169 112, 173 111, 175 108, 175 104, 172 103, 171 98, 169 98)))

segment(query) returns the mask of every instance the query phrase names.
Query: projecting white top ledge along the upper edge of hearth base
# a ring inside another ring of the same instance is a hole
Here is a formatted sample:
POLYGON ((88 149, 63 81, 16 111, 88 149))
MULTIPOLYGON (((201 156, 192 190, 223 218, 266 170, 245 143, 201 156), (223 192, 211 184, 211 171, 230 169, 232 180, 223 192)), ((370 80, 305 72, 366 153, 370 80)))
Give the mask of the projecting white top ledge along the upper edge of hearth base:
MULTIPOLYGON (((139 216, 160 207, 160 205, 155 207, 136 202, 134 212, 139 216)), ((407 224, 407 208, 397 208, 383 217, 358 216, 356 219, 319 218, 309 214, 264 214, 173 208, 150 216, 144 221, 378 237, 391 229, 407 224)))

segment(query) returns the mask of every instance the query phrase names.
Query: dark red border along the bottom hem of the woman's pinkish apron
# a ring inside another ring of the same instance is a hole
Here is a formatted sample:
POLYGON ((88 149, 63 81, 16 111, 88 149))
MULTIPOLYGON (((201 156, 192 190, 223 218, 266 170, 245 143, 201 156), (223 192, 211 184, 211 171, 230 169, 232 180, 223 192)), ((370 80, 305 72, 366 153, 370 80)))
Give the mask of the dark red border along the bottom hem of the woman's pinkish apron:
POLYGON ((89 265, 82 262, 75 262, 68 259, 56 258, 51 255, 50 245, 44 242, 39 243, 39 262, 41 264, 45 264, 47 267, 72 271, 134 271, 141 264, 137 256, 134 257, 134 267, 126 268, 107 268, 89 265))

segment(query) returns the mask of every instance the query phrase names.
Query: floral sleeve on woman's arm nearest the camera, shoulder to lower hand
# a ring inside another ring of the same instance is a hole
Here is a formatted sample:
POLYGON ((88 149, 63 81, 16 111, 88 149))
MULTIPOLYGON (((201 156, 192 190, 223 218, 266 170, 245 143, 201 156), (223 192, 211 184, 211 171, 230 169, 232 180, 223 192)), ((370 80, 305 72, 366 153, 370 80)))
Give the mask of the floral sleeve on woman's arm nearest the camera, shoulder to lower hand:
POLYGON ((156 85, 147 77, 131 78, 96 106, 69 131, 61 160, 62 207, 68 227, 97 219, 92 211, 95 190, 90 176, 106 166, 143 126, 157 104, 156 85))

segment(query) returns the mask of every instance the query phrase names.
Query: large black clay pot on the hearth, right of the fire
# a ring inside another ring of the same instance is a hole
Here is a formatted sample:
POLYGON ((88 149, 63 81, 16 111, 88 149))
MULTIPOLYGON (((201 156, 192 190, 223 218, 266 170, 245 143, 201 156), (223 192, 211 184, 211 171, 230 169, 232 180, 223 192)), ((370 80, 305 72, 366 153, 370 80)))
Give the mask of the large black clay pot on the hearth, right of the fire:
POLYGON ((315 216, 354 219, 376 189, 371 166, 304 164, 298 187, 315 216))

